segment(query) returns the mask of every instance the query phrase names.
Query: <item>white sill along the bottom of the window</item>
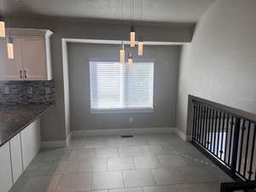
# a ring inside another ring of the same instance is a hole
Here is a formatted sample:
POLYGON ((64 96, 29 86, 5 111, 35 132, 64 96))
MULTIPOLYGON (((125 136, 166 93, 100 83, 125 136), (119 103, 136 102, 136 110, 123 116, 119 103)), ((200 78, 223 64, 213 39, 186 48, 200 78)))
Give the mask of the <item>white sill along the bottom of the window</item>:
POLYGON ((131 109, 90 109, 91 114, 97 113, 153 113, 153 108, 131 108, 131 109))

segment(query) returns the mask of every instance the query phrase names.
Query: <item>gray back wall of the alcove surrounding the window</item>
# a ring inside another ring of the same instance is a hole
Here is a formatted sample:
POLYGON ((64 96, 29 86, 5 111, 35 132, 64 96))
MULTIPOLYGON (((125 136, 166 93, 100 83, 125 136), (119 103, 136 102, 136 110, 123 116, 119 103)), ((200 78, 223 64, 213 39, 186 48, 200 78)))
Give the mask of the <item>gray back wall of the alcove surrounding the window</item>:
POLYGON ((176 127, 180 46, 145 46, 143 57, 139 57, 154 61, 153 113, 90 113, 89 61, 117 61, 118 50, 119 45, 67 44, 71 130, 176 127), (133 123, 129 122, 130 117, 133 123))

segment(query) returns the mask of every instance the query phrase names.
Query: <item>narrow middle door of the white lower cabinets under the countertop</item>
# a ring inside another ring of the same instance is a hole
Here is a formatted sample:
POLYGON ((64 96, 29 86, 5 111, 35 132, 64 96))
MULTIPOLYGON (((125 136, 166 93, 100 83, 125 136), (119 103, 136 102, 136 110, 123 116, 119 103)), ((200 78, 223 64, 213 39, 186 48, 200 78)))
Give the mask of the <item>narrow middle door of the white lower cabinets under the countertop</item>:
POLYGON ((13 167, 13 169, 12 169, 13 170, 13 178, 14 178, 14 183, 15 183, 23 171, 20 134, 13 137, 9 143, 10 143, 11 163, 12 163, 12 167, 13 167))

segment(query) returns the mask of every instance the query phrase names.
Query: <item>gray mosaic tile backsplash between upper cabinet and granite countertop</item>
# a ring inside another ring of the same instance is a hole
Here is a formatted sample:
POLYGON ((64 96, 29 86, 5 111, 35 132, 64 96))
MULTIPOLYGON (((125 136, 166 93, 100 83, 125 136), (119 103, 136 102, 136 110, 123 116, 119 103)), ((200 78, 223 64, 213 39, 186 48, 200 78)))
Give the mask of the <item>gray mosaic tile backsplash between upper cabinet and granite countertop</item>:
POLYGON ((55 82, 0 81, 0 104, 52 104, 55 82))

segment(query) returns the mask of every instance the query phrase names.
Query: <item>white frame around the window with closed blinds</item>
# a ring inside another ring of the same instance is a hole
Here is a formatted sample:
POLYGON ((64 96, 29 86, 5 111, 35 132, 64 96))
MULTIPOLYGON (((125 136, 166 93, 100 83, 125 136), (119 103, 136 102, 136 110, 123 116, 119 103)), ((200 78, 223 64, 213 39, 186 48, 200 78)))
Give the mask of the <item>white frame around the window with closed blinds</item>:
MULTIPOLYGON (((90 62, 119 62, 116 60, 102 60, 102 59, 90 59, 90 62)), ((152 108, 91 108, 91 95, 90 95, 90 113, 96 114, 96 113, 153 113, 154 112, 154 60, 136 60, 134 63, 137 62, 151 62, 152 64, 152 78, 151 78, 151 102, 152 102, 152 108)), ((132 70, 132 69, 131 69, 132 70)), ((91 88, 90 88, 91 89, 91 88)))

